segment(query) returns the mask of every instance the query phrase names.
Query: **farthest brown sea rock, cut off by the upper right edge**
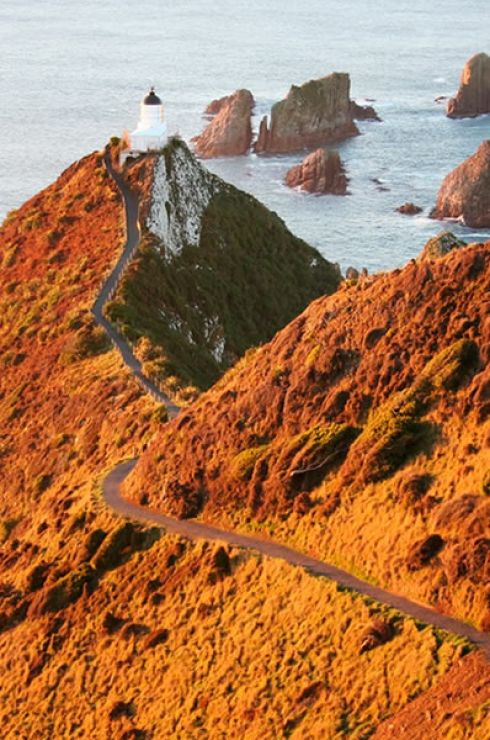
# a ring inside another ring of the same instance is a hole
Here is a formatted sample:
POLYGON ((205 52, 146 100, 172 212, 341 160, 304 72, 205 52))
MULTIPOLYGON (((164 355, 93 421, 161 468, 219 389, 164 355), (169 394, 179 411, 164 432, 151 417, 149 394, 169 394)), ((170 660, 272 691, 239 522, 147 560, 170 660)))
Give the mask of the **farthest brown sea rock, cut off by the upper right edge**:
POLYGON ((490 113, 490 56, 475 54, 463 67, 459 90, 447 105, 449 118, 474 118, 490 113))

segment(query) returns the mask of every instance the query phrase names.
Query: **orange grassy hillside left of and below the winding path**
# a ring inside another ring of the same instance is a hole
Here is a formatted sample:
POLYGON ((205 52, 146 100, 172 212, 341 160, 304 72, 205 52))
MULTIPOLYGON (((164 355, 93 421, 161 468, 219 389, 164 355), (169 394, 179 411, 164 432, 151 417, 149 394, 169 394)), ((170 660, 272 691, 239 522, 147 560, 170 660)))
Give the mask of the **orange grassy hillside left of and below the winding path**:
MULTIPOLYGON (((149 204, 152 180, 139 182, 149 204)), ((282 561, 104 506, 101 479, 142 453, 165 413, 91 314, 124 243, 102 154, 11 213, 0 242, 2 735, 372 734, 404 709, 427 722, 427 696, 439 736, 485 737, 488 664, 464 641, 282 561)))

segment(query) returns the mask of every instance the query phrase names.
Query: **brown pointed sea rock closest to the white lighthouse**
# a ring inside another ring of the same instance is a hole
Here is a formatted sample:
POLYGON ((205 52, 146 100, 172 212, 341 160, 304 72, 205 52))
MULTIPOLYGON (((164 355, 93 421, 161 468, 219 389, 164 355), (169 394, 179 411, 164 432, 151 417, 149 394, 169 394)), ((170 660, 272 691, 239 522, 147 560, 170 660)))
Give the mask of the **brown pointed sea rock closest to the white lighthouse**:
POLYGON ((214 101, 210 107, 216 111, 215 117, 203 133, 193 139, 198 157, 209 159, 246 154, 252 144, 252 93, 237 90, 214 101))

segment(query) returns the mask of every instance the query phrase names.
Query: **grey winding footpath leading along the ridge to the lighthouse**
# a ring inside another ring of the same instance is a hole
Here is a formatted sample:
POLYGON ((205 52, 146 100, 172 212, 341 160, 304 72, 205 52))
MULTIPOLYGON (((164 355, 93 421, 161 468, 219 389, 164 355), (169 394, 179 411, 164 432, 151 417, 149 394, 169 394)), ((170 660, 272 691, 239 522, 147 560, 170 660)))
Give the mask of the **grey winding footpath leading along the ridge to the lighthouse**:
MULTIPOLYGON (((104 284, 92 310, 97 322, 106 330, 115 347, 117 347, 121 352, 127 367, 137 377, 146 390, 165 404, 169 416, 174 417, 177 415, 179 408, 175 406, 172 401, 154 385, 154 383, 143 375, 141 365, 134 357, 129 345, 118 334, 112 324, 110 324, 110 322, 103 316, 103 307, 114 294, 126 265, 136 251, 140 237, 138 227, 138 200, 129 190, 122 177, 114 171, 108 156, 105 158, 105 163, 124 199, 127 237, 123 253, 113 272, 104 284)), ((121 495, 120 487, 136 463, 137 460, 129 460, 120 463, 105 477, 102 483, 105 502, 118 514, 145 524, 155 524, 159 527, 165 528, 168 532, 179 534, 192 540, 218 540, 235 547, 255 550, 267 557, 280 558, 291 565, 305 568, 315 575, 326 576, 346 588, 353 589, 354 591, 364 594, 375 601, 398 609, 404 614, 408 614, 421 622, 431 624, 438 629, 446 630, 471 640, 471 642, 473 642, 477 647, 485 651, 487 658, 490 660, 490 634, 481 632, 466 622, 448 617, 430 607, 410 601, 404 596, 398 596, 390 591, 385 591, 383 588, 356 578, 347 571, 341 570, 340 568, 330 565, 322 560, 312 558, 298 550, 287 547, 286 545, 280 545, 271 540, 262 539, 256 536, 219 529, 218 527, 198 522, 193 519, 174 519, 128 501, 121 495)))

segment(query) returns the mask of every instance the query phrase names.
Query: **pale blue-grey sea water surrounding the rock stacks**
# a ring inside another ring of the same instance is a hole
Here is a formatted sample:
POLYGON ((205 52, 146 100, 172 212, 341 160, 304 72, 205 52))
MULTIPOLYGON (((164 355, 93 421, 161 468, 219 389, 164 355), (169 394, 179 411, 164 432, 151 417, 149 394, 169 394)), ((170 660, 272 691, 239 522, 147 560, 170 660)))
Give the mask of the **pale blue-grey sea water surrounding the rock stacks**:
MULTIPOLYGON (((350 196, 286 188, 298 155, 207 166, 344 268, 401 265, 441 229, 427 214, 444 175, 490 137, 490 116, 450 121, 435 103, 456 91, 473 53, 490 53, 489 28, 488 0, 1 3, 0 218, 131 129, 150 84, 164 99, 169 130, 190 139, 205 105, 237 87, 254 93, 258 122, 292 83, 345 71, 352 96, 375 99, 383 119, 360 124, 362 135, 338 147, 350 196), (424 213, 395 213, 407 200, 424 213)), ((468 240, 490 236, 451 228, 468 240)))

